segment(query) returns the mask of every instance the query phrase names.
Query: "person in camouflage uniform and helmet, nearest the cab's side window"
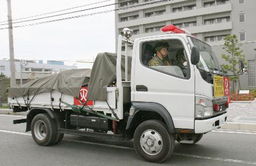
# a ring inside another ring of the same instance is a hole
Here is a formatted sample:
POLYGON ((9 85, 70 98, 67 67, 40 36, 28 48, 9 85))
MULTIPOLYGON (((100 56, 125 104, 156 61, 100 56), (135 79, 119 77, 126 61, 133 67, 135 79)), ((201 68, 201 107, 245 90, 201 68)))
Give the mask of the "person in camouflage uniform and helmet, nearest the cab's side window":
POLYGON ((168 48, 169 45, 167 42, 158 42, 155 44, 155 56, 148 61, 148 66, 170 66, 168 62, 168 48))

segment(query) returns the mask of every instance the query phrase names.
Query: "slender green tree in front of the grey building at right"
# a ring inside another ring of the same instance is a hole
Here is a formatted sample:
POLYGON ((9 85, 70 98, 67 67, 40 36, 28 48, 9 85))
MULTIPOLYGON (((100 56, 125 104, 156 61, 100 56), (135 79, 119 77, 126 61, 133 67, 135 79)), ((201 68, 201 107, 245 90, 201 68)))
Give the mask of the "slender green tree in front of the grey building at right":
MULTIPOLYGON (((246 65, 245 55, 242 54, 243 50, 240 49, 242 44, 238 43, 236 35, 228 35, 224 38, 225 43, 223 49, 229 54, 222 54, 221 57, 225 59, 228 64, 221 65, 225 73, 232 75, 240 74, 241 71, 238 67, 239 59, 246 65)), ((233 92, 236 83, 239 83, 239 76, 230 76, 230 81, 233 82, 233 92)), ((239 83, 240 84, 240 83, 239 83)))

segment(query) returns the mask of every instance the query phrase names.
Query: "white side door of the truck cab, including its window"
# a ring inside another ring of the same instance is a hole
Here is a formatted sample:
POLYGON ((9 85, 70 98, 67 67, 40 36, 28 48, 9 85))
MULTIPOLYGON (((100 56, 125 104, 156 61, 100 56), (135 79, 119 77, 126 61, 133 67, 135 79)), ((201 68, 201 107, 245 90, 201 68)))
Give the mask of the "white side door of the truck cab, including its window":
POLYGON ((189 61, 188 45, 181 36, 137 42, 132 99, 163 105, 171 114, 175 128, 179 129, 194 128, 195 76, 189 61), (168 44, 168 55, 163 61, 156 55, 159 42, 168 44))

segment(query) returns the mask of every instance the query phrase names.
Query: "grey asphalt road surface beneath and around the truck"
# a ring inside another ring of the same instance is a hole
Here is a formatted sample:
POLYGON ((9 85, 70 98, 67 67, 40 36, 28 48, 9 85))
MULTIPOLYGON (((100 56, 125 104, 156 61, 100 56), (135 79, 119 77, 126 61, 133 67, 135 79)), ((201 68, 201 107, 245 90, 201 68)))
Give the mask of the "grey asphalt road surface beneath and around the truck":
MULTIPOLYGON (((55 146, 38 146, 26 124, 12 124, 19 118, 0 114, 0 165, 159 165, 139 158, 131 141, 65 135, 55 146)), ((256 131, 214 130, 195 145, 176 142, 160 165, 256 165, 256 131)))

